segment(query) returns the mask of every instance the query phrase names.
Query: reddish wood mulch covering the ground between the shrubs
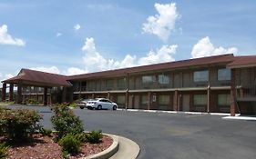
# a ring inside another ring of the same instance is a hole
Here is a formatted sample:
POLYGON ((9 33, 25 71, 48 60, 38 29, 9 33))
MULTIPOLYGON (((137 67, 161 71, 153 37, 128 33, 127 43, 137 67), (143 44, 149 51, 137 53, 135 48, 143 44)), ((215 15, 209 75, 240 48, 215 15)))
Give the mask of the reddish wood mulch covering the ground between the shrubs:
MULTIPOLYGON (((0 142, 5 140, 0 136, 0 142)), ((103 135, 100 144, 84 143, 80 147, 80 153, 69 156, 70 159, 77 159, 91 154, 98 154, 113 143, 108 135, 103 135)), ((43 136, 41 134, 33 135, 33 142, 25 144, 12 144, 8 151, 7 159, 62 159, 61 147, 53 141, 53 137, 43 136)))

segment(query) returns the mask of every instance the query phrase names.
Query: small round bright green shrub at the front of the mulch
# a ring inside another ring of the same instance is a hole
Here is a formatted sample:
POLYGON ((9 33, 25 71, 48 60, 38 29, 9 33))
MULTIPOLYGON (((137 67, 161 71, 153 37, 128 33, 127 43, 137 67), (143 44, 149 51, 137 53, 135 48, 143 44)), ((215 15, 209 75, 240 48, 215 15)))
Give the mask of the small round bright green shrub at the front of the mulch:
POLYGON ((75 134, 67 134, 59 140, 58 144, 62 146, 63 152, 68 152, 68 154, 77 154, 81 142, 77 139, 75 134))

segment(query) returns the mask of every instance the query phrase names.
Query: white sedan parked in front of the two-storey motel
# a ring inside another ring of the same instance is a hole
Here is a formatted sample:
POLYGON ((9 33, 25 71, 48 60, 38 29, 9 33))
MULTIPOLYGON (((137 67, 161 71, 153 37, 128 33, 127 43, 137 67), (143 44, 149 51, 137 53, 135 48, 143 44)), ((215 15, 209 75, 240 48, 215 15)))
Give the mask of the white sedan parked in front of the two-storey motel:
POLYGON ((87 109, 112 109, 117 110, 118 104, 105 99, 105 98, 96 98, 95 100, 87 101, 87 109))

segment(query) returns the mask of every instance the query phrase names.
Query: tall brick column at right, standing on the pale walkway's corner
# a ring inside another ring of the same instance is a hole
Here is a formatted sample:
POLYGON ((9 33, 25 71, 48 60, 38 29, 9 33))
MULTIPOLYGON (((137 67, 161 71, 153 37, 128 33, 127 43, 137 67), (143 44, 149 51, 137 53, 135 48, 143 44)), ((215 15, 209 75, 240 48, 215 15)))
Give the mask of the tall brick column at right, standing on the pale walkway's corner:
POLYGON ((235 116, 236 114, 236 70, 231 69, 231 89, 230 89, 230 116, 235 116))

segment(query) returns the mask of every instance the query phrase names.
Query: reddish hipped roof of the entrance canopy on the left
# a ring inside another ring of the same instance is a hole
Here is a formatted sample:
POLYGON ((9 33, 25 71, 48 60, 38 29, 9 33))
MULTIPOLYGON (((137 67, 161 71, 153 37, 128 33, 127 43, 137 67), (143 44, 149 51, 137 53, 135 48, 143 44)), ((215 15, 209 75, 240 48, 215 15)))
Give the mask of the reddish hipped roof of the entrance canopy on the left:
POLYGON ((41 71, 21 69, 18 75, 3 81, 10 84, 33 84, 38 86, 71 86, 66 75, 56 75, 41 71))

